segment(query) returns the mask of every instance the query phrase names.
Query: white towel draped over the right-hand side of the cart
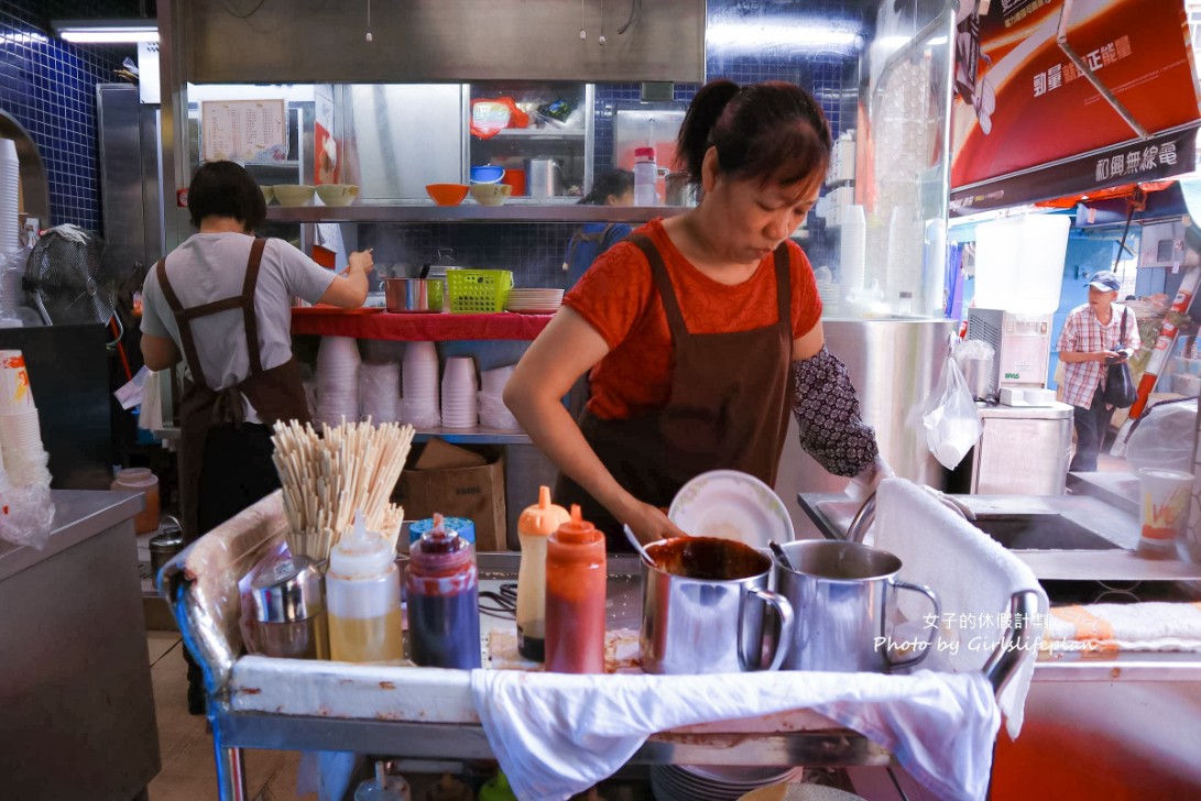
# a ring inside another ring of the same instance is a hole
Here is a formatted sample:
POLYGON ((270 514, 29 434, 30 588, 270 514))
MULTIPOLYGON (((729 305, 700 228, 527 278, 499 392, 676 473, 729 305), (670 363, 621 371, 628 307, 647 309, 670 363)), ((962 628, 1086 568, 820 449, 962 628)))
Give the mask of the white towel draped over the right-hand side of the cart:
MULTIPOLYGON (((937 654, 956 673, 976 673, 988 660, 1004 636, 1003 623, 1015 592, 1038 593, 1038 614, 1022 621, 1030 629, 1032 646, 998 699, 1005 728, 1017 737, 1047 611, 1046 593, 1034 573, 930 491, 901 478, 880 482, 872 534, 874 546, 901 560, 902 579, 928 585, 939 594, 943 620, 937 654)), ((928 614, 928 604, 916 593, 900 593, 898 608, 910 620, 928 614)))

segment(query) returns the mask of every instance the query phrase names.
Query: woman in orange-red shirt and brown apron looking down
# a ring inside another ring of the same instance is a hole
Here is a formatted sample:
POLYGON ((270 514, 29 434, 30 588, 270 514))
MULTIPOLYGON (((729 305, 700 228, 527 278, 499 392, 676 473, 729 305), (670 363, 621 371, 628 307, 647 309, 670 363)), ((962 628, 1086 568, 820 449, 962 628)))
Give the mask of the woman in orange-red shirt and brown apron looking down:
POLYGON ((699 473, 773 484, 790 408, 826 470, 876 471, 874 432, 825 349, 813 270, 788 238, 830 147, 800 88, 706 84, 677 148, 700 205, 598 257, 518 364, 504 401, 558 467, 556 502, 581 503, 613 549, 625 550, 621 524, 643 542, 685 533, 662 509, 699 473), (560 399, 588 370, 576 423, 560 399))

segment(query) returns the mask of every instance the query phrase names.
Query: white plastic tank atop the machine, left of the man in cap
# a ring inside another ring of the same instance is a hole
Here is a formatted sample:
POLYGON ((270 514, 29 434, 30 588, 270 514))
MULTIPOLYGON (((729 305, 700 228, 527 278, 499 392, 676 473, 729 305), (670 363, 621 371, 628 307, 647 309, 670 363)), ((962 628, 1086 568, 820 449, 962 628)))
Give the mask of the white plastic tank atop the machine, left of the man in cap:
POLYGON ((1027 214, 976 227, 976 309, 1050 315, 1059 309, 1068 228, 1062 214, 1027 214))

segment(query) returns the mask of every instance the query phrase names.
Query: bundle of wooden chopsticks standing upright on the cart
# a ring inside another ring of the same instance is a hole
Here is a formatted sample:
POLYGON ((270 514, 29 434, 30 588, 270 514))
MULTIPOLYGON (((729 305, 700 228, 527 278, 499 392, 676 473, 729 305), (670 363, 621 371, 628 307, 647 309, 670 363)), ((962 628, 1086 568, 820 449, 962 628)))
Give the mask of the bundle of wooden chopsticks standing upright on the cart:
POLYGON ((279 422, 271 442, 293 556, 324 562, 353 526, 357 509, 369 531, 380 532, 395 546, 405 510, 390 497, 408 458, 413 426, 372 425, 368 418, 366 423, 322 424, 318 435, 311 423, 279 422))

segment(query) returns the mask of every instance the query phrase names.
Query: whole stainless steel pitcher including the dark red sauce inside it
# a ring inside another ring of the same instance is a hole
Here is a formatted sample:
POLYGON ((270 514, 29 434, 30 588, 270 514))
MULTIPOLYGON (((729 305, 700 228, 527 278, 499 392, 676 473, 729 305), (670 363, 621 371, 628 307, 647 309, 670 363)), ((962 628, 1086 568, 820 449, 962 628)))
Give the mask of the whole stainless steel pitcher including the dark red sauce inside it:
POLYGON ((779 669, 793 640, 793 608, 767 590, 770 558, 741 543, 711 537, 669 539, 647 551, 656 567, 641 562, 643 670, 779 669), (764 614, 769 606, 778 627, 764 614))

